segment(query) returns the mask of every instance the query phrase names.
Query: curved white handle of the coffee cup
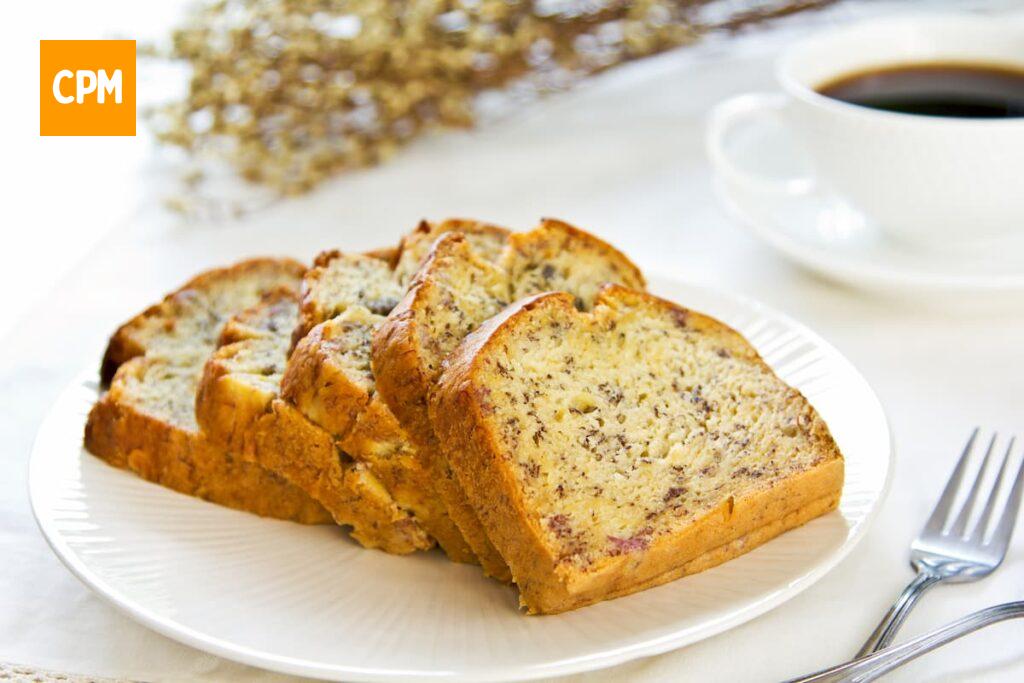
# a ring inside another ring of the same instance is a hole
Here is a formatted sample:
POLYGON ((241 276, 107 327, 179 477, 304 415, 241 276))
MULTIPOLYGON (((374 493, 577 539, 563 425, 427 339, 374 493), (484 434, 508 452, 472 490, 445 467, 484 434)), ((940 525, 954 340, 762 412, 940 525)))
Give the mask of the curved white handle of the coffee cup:
POLYGON ((736 164, 726 152, 725 140, 729 133, 744 121, 777 114, 788 106, 788 99, 780 92, 751 92, 730 97, 718 103, 708 119, 708 157, 715 170, 729 181, 744 189, 763 195, 799 196, 814 189, 811 176, 777 177, 757 173, 736 164))

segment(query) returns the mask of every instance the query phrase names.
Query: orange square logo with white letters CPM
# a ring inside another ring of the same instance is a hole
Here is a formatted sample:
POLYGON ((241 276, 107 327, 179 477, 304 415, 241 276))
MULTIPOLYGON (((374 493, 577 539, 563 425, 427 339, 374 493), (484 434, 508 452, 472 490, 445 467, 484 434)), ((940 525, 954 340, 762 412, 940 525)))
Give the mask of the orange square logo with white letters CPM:
POLYGON ((135 41, 39 41, 40 135, 134 135, 135 41))

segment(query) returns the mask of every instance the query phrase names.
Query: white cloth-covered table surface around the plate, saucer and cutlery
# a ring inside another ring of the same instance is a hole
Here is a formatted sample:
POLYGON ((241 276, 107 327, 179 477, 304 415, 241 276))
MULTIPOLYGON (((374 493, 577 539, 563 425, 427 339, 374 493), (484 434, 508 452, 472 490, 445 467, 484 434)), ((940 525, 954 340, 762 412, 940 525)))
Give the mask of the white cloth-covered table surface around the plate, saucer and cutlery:
MULTIPOLYGON (((55 4, 30 9, 31 26, 3 28, 5 56, 15 48, 37 54, 38 38, 101 37, 106 28, 130 33, 134 22, 163 27, 177 11, 173 3, 68 3, 65 12, 55 4), (115 4, 127 13, 103 13, 115 4), (103 23, 114 15, 118 22, 103 23)), ((984 423, 1024 433, 1024 297, 880 297, 791 266, 716 204, 701 135, 714 102, 771 87, 772 55, 794 37, 894 7, 858 2, 628 67, 503 123, 424 140, 387 166, 221 224, 185 223, 159 208, 167 164, 144 136, 39 138, 32 112, 9 114, 0 291, 9 311, 20 314, 9 313, 0 327, 0 661, 144 680, 286 680, 147 631, 63 568, 26 496, 36 427, 72 376, 98 364, 116 324, 196 270, 251 254, 309 258, 321 248, 387 244, 420 217, 447 215, 519 228, 558 216, 621 245, 648 270, 761 299, 846 353, 892 422, 892 493, 835 571, 726 634, 587 678, 771 681, 855 651, 910 579, 907 545, 970 428, 984 423), (102 191, 113 205, 94 199, 102 191)), ((33 101, 35 76, 14 83, 33 101)), ((904 636, 1022 592, 1024 531, 990 579, 935 589, 904 636)), ((1024 680, 1022 636, 1021 623, 991 627, 892 680, 1024 680)))

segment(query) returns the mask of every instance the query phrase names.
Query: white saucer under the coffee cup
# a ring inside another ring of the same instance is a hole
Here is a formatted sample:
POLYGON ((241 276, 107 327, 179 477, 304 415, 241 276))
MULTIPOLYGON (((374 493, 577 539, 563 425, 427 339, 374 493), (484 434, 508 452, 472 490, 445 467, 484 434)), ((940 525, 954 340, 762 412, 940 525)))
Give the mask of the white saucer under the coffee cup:
MULTIPOLYGON (((788 135, 763 131, 733 146, 751 168, 806 171, 788 135), (788 156, 788 158, 785 158, 788 156)), ((719 175, 729 212, 796 263, 839 282, 873 290, 1017 292, 1024 290, 1024 234, 984 244, 919 247, 885 236, 870 218, 827 189, 774 195, 719 175)))

